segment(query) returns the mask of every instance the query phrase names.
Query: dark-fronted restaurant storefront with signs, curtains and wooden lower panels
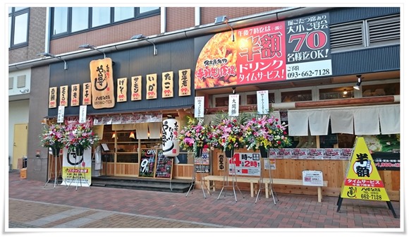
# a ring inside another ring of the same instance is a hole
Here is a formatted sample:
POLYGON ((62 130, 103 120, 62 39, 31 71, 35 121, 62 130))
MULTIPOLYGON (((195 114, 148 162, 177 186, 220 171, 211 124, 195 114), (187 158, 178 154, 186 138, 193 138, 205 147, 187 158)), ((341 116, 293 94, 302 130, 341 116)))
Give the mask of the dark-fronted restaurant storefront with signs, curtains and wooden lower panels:
MULTIPOLYGON (((373 18, 374 22, 389 19, 377 14, 368 8, 361 15, 373 18)), ((288 135, 293 140, 293 147, 286 148, 290 153, 274 157, 274 177, 300 179, 303 170, 319 170, 329 181, 324 195, 338 196, 346 157, 339 153, 303 156, 297 153, 300 149, 342 152, 353 147, 357 135, 367 136, 368 141, 376 138, 383 144, 374 152, 398 152, 400 147, 399 44, 381 47, 385 51, 379 48, 336 51, 336 30, 343 28, 347 16, 350 17, 348 9, 337 9, 164 42, 157 45, 157 55, 152 55, 152 45, 111 51, 106 53, 106 59, 111 59, 112 65, 104 71, 111 85, 104 87, 104 80, 100 84, 101 91, 111 93, 109 97, 87 91, 99 85, 98 76, 93 73, 102 70, 100 66, 105 67, 106 63, 92 66, 92 61, 106 60, 101 59, 102 55, 68 61, 70 68, 65 71, 61 70, 61 63, 51 64, 48 116, 58 116, 57 105, 63 104, 64 120, 69 123, 79 118, 80 106, 87 105, 87 121, 104 144, 99 174, 160 178, 155 167, 149 166, 156 164, 161 153, 164 120, 174 118, 181 128, 185 116, 193 116, 197 109, 197 97, 204 99, 203 117, 208 122, 219 112, 228 112, 232 94, 239 96, 240 112, 254 112, 257 92, 267 91, 269 107, 279 114, 281 122, 288 124, 288 135), (397 55, 393 55, 395 52, 397 55), (362 65, 358 59, 364 53, 367 63, 362 65), (371 63, 375 60, 377 63, 371 63), (358 75, 375 79, 355 90, 358 75), (350 83, 350 78, 354 83, 350 83), (74 93, 78 88, 78 94, 74 93), (73 104, 75 95, 80 95, 78 104, 73 104), (97 101, 87 101, 87 95, 97 101), (54 103, 51 97, 56 98, 54 103), (104 99, 109 102, 102 102, 104 99), (100 107, 102 104, 105 107, 100 107), (393 147, 385 145, 384 136, 391 138, 386 143, 392 142, 393 147), (398 145, 394 140, 398 140, 398 145), (149 161, 146 154, 152 151, 156 158, 149 161)), ((219 165, 222 153, 219 150, 209 153, 208 174, 224 175, 226 167, 221 169, 219 165)), ((171 178, 192 178, 193 154, 180 151, 173 162, 171 178)), ((261 172, 268 176, 268 172, 261 172)), ((389 169, 380 174, 391 200, 398 200, 400 171, 389 169)), ((248 189, 243 184, 240 187, 248 189)), ((287 186, 278 186, 276 191, 317 192, 287 186)))

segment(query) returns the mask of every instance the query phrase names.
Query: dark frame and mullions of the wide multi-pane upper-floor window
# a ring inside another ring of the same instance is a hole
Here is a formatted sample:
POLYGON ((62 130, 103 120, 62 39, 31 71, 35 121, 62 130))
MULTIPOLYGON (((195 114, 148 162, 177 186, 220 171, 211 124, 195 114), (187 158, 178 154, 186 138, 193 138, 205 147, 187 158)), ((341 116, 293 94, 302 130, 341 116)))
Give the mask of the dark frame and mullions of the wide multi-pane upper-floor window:
MULTIPOLYGON (((57 39, 59 37, 66 37, 69 35, 75 35, 75 34, 79 34, 79 33, 83 33, 83 32, 88 32, 91 30, 96 30, 96 29, 100 29, 100 28, 106 28, 107 26, 111 26, 111 25, 118 25, 118 24, 122 24, 122 23, 126 23, 126 22, 130 22, 133 20, 140 20, 142 18, 148 18, 151 16, 157 16, 160 15, 161 13, 161 8, 158 6, 157 9, 152 10, 152 11, 148 11, 145 13, 139 13, 139 7, 134 7, 133 8, 133 18, 126 18, 124 20, 117 20, 115 21, 114 18, 114 13, 115 13, 115 8, 116 7, 110 7, 109 9, 109 23, 103 24, 103 25, 97 25, 92 27, 92 8, 93 7, 88 7, 88 23, 87 23, 87 28, 83 29, 83 30, 78 30, 73 32, 72 31, 72 8, 73 7, 67 7, 68 8, 68 15, 67 15, 67 31, 66 32, 61 32, 59 34, 55 34, 53 33, 53 30, 50 30, 50 38, 51 39, 57 39)), ((51 17, 50 17, 50 27, 51 29, 54 29, 54 7, 50 8, 50 12, 51 12, 51 17)))

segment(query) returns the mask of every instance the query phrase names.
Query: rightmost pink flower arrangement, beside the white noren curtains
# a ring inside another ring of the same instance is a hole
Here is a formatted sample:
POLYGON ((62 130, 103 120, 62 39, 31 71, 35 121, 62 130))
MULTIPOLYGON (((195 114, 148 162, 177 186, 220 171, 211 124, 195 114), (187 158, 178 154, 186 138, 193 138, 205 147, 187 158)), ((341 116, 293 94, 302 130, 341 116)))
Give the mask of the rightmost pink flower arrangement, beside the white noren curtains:
POLYGON ((285 124, 280 125, 279 119, 274 116, 264 115, 248 121, 243 140, 248 150, 260 150, 260 147, 283 148, 291 145, 291 140, 286 135, 285 124))

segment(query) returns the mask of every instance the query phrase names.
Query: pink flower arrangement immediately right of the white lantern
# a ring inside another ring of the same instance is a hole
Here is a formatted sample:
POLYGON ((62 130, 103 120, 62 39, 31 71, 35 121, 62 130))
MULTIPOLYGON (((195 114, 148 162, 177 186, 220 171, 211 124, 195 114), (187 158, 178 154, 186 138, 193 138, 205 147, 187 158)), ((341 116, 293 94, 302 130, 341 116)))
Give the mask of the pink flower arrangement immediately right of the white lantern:
POLYGON ((179 145, 183 150, 189 152, 197 152, 197 149, 202 149, 208 146, 212 133, 209 126, 204 124, 203 119, 188 116, 188 122, 182 128, 178 135, 179 145))

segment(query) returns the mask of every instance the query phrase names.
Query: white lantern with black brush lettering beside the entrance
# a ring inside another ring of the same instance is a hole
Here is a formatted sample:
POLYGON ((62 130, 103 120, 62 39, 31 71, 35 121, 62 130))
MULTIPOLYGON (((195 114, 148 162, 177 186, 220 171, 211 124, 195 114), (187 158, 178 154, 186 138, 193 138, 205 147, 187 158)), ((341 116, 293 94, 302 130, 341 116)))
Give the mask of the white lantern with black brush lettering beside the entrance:
POLYGON ((176 119, 165 119, 162 122, 162 150, 166 157, 176 157, 179 154, 178 129, 176 119))

